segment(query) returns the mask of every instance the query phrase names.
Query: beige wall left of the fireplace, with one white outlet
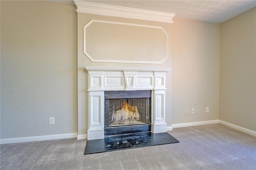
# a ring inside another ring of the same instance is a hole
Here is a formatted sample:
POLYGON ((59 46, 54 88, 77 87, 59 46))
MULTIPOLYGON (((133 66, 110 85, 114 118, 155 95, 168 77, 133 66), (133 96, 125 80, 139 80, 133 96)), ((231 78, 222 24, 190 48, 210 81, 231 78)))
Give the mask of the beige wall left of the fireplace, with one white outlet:
POLYGON ((1 1, 2 139, 77 132, 76 21, 72 5, 1 1))

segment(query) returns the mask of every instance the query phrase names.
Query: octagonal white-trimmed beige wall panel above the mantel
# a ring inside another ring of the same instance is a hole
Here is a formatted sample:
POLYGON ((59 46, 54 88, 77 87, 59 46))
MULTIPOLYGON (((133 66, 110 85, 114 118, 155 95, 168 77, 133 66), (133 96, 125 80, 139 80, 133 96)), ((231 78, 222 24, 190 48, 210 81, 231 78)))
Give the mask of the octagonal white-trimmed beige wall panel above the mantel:
POLYGON ((160 26, 91 20, 84 26, 84 54, 92 62, 161 64, 168 34, 160 26))

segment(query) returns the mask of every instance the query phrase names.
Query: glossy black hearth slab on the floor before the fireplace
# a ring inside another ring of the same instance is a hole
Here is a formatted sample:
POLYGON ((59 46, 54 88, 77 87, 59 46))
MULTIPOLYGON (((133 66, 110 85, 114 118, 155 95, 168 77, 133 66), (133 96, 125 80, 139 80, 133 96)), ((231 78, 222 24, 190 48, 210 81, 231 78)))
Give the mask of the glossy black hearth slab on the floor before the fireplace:
POLYGON ((87 140, 84 154, 110 152, 129 148, 140 148, 160 144, 179 142, 176 138, 164 133, 140 132, 105 136, 104 139, 87 140))

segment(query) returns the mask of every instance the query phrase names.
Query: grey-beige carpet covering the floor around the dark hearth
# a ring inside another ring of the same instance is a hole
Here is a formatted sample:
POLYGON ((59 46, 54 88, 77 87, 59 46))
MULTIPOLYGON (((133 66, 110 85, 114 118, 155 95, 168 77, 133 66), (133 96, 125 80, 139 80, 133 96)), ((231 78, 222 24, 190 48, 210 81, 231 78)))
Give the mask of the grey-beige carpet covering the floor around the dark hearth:
POLYGON ((255 170, 256 136, 220 124, 174 128, 179 143, 84 155, 76 138, 0 145, 1 170, 255 170))

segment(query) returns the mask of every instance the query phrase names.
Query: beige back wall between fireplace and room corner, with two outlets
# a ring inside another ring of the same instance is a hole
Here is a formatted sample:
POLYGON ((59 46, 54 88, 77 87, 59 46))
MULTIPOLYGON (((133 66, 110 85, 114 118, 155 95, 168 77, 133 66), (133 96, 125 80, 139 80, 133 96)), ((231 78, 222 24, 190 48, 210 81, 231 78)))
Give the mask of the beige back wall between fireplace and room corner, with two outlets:
POLYGON ((171 123, 218 120, 220 24, 175 18, 172 41, 171 123))

